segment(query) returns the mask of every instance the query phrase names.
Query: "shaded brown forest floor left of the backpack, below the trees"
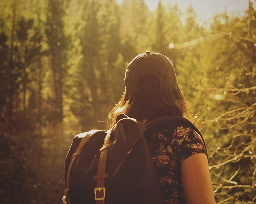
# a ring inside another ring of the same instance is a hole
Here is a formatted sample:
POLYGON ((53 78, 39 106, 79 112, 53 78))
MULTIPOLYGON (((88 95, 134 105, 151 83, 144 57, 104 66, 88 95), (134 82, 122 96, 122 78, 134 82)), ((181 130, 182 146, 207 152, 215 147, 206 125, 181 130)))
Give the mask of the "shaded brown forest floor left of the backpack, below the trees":
POLYGON ((72 138, 0 131, 0 204, 61 204, 72 138))

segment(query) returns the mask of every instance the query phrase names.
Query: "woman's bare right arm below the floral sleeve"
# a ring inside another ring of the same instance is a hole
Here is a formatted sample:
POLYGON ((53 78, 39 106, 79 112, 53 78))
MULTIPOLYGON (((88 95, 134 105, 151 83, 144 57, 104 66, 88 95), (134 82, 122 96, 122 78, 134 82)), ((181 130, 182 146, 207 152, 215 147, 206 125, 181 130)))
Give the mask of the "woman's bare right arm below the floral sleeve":
POLYGON ((181 163, 181 182, 186 204, 215 204, 204 153, 193 154, 181 163))

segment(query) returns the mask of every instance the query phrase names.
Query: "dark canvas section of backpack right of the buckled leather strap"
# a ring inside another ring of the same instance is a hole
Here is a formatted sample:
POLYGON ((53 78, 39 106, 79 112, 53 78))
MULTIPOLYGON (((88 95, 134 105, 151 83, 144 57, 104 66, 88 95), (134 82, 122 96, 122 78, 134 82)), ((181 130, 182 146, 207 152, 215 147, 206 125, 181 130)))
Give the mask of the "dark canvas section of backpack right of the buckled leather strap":
POLYGON ((144 124, 132 118, 123 118, 114 127, 106 164, 106 204, 162 203, 144 130, 144 124))

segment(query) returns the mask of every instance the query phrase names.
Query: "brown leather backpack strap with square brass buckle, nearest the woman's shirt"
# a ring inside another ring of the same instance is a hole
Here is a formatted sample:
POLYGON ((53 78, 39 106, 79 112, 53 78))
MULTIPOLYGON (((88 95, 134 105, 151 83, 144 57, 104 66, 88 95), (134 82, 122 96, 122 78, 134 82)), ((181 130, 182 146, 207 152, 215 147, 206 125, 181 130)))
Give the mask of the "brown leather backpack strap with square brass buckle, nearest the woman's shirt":
POLYGON ((113 131, 113 128, 107 131, 107 135, 104 140, 104 145, 102 148, 100 148, 100 158, 98 163, 98 171, 97 175, 94 176, 94 179, 96 179, 96 188, 94 189, 94 199, 96 201, 96 204, 104 204, 105 199, 105 178, 107 178, 109 175, 105 173, 106 168, 106 159, 108 156, 108 150, 110 147, 110 136, 113 131))

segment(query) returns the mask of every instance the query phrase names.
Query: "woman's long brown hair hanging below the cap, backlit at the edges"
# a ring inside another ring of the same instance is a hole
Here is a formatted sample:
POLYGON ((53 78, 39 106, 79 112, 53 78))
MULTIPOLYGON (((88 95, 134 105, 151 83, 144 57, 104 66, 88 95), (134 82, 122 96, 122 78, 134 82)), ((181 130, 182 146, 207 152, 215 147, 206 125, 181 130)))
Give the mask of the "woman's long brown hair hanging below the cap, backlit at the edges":
POLYGON ((109 113, 108 126, 115 125, 120 113, 143 121, 161 116, 181 116, 190 118, 189 102, 179 87, 151 94, 130 94, 126 91, 109 113))

